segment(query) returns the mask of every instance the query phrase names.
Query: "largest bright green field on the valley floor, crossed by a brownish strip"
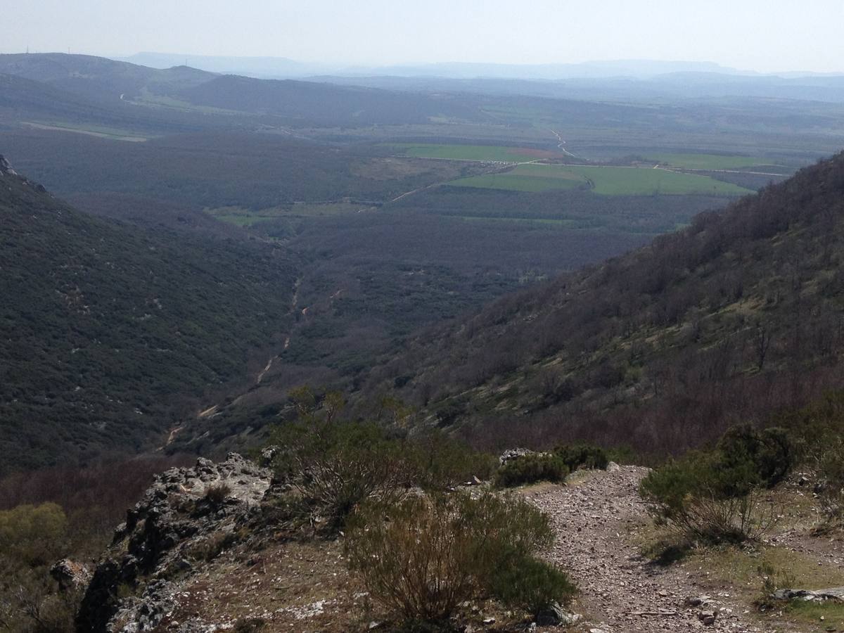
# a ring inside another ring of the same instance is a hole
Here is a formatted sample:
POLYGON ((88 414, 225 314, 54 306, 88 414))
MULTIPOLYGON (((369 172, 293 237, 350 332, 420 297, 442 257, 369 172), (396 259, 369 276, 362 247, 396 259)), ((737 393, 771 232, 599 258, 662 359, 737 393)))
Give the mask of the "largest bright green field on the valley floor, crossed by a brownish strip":
POLYGON ((749 189, 709 176, 636 167, 584 165, 518 165, 501 174, 473 176, 451 183, 456 187, 507 189, 518 192, 544 192, 554 189, 589 187, 605 196, 743 195, 749 189))

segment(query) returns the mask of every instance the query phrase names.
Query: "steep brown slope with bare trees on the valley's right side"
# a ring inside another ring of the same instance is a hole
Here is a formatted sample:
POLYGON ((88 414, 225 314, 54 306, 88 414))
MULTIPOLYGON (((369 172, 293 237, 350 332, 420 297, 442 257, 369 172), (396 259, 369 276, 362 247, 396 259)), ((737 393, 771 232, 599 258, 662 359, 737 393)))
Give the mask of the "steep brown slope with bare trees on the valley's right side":
POLYGON ((597 268, 423 333, 371 374, 430 423, 673 452, 839 386, 844 154, 597 268), (466 424, 473 423, 473 424, 466 424))

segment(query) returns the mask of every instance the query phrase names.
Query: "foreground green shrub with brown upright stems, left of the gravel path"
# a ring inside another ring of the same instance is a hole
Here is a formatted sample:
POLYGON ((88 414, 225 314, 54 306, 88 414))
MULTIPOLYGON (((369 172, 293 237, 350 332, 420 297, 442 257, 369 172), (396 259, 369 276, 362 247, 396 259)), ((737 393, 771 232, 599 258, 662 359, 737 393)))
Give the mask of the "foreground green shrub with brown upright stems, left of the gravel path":
POLYGON ((571 583, 532 559, 554 533, 525 500, 418 496, 390 507, 365 506, 351 527, 350 568, 372 598, 407 620, 442 622, 482 595, 531 608, 571 596, 571 583), (511 587, 518 571, 530 575, 530 588, 511 587))

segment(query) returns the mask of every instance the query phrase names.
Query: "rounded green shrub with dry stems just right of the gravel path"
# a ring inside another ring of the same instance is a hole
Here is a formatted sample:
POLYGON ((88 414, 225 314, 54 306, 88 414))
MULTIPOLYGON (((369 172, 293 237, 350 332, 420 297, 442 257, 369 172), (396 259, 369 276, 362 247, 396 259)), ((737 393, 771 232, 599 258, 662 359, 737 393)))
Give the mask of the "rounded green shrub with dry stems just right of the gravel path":
POLYGON ((760 514, 755 464, 727 464, 717 453, 690 453, 642 479, 641 495, 657 522, 684 538, 738 543, 758 538, 774 514, 760 514))

